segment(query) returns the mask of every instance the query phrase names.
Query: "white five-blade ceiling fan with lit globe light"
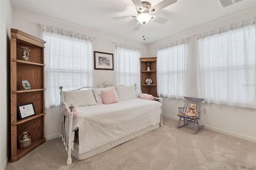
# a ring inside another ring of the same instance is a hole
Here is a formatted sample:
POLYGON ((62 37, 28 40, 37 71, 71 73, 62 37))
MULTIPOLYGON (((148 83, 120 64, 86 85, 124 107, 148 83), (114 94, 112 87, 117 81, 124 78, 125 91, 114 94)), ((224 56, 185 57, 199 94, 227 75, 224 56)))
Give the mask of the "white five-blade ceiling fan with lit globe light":
POLYGON ((162 18, 159 16, 152 15, 155 12, 158 12, 159 10, 170 6, 171 4, 174 4, 177 2, 177 0, 163 0, 162 2, 156 4, 155 6, 151 7, 151 4, 149 2, 141 2, 140 0, 132 0, 133 4, 135 5, 138 15, 130 15, 130 16, 121 16, 121 17, 115 17, 113 20, 121 20, 126 18, 136 18, 138 20, 134 31, 139 30, 141 24, 147 24, 149 20, 153 19, 152 21, 158 22, 160 24, 165 24, 168 19, 162 18))

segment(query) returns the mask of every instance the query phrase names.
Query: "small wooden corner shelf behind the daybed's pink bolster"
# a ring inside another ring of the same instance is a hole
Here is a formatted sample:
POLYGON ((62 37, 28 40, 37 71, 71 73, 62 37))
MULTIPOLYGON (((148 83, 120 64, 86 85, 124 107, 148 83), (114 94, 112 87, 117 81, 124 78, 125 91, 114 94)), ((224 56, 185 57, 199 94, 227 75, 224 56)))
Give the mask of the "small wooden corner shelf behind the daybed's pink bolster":
POLYGON ((148 93, 155 97, 157 94, 156 57, 140 58, 140 89, 142 93, 148 93), (148 63, 150 71, 147 70, 148 63), (152 84, 146 84, 146 79, 152 79, 152 84))

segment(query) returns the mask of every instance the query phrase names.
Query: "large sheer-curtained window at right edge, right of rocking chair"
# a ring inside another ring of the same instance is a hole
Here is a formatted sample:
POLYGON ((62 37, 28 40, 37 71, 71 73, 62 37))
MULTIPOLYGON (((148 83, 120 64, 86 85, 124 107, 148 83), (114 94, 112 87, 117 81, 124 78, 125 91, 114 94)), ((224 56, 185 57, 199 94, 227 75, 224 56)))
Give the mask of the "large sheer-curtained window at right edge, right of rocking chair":
POLYGON ((198 40, 200 96, 208 103, 256 108, 255 24, 198 40))

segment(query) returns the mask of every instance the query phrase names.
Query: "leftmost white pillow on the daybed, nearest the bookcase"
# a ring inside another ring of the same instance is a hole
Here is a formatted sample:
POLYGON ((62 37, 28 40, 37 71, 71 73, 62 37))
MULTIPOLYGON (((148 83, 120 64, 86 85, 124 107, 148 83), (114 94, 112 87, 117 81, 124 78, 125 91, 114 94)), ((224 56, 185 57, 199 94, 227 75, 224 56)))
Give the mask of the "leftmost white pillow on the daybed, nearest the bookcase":
POLYGON ((75 107, 97 105, 92 89, 63 91, 64 101, 67 105, 73 104, 75 107))

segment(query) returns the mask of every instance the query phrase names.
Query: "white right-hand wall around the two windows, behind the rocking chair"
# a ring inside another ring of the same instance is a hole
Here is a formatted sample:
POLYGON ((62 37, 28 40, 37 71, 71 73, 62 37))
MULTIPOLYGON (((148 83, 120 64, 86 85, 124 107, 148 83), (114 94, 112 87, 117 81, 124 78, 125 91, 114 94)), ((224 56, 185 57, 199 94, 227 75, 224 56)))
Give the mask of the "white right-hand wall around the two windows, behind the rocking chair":
MULTIPOLYGON (((216 29, 221 26, 226 26, 234 22, 239 22, 244 19, 256 16, 256 8, 240 12, 233 16, 222 18, 190 30, 180 32, 172 37, 160 40, 148 45, 148 54, 156 56, 154 47, 165 45, 166 43, 176 42, 183 38, 193 37, 196 34, 203 33, 211 29, 216 29)), ((197 38, 188 40, 188 96, 197 96, 197 38)), ((163 99, 163 114, 169 117, 178 119, 178 107, 184 105, 183 100, 163 99)), ((215 105, 212 103, 203 103, 202 107, 208 109, 208 114, 202 113, 201 123, 206 127, 228 132, 237 136, 256 140, 256 109, 243 107, 235 107, 228 105, 215 105)))

